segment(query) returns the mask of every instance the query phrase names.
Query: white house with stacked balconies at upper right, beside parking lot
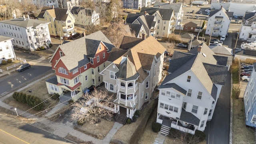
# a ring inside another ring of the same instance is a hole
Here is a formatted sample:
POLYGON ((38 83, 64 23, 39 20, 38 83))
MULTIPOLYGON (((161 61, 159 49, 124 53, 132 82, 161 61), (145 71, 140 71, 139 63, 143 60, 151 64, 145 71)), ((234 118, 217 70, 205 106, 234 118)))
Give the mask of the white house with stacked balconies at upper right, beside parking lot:
POLYGON ((210 18, 207 22, 207 27, 205 34, 212 36, 226 36, 228 34, 228 29, 230 26, 231 18, 233 12, 226 12, 226 10, 221 7, 220 10, 211 10, 210 18))

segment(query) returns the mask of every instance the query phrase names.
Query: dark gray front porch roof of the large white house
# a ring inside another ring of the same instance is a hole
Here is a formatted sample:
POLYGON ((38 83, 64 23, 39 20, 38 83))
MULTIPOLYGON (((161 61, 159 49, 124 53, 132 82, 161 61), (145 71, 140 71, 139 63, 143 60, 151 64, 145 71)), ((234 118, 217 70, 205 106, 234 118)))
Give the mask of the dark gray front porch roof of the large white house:
POLYGON ((183 122, 187 122, 196 126, 199 126, 199 118, 194 116, 194 114, 191 114, 190 112, 186 112, 185 110, 182 109, 181 114, 180 114, 180 119, 183 122))

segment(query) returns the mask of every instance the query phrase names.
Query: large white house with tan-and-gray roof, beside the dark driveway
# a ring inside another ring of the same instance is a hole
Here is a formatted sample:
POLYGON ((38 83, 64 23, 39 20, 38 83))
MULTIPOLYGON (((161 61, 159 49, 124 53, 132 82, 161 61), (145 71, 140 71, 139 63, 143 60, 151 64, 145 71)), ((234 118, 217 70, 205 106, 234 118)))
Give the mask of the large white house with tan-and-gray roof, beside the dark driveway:
POLYGON ((226 82, 226 63, 227 57, 216 56, 204 42, 188 53, 174 51, 169 74, 158 88, 156 122, 161 129, 204 131, 226 82))

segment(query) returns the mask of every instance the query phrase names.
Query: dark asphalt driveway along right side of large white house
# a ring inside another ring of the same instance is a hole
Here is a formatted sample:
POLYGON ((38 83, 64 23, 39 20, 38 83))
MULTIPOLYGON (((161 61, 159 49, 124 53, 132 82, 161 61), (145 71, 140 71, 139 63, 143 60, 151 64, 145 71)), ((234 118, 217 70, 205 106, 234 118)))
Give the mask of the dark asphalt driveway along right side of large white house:
POLYGON ((230 133, 230 72, 225 86, 220 92, 216 108, 210 122, 204 130, 207 144, 228 144, 230 133))

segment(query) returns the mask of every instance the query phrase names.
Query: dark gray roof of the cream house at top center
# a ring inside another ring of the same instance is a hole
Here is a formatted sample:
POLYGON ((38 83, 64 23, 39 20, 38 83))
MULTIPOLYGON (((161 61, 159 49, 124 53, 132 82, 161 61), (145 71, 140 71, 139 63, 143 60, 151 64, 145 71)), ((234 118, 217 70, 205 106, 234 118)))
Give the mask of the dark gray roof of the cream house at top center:
POLYGON ((140 14, 144 14, 144 11, 146 11, 150 15, 153 15, 155 12, 158 11, 160 13, 160 16, 162 16, 163 20, 171 20, 173 12, 173 10, 170 9, 142 7, 140 10, 140 14))

